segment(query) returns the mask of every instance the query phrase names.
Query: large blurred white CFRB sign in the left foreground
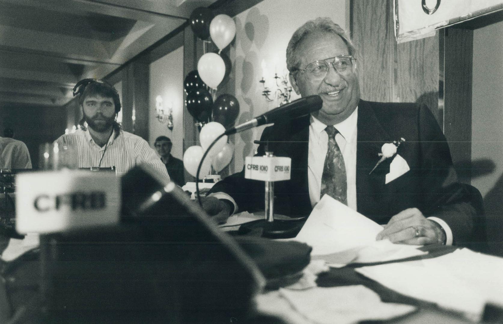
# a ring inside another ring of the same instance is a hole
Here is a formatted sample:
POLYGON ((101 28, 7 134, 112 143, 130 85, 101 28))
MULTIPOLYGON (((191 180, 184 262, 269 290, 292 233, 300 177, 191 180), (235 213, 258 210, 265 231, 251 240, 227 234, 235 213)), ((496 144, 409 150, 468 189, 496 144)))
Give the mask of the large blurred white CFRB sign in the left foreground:
POLYGON ((118 224, 120 179, 91 171, 27 172, 16 176, 16 230, 54 233, 118 224))

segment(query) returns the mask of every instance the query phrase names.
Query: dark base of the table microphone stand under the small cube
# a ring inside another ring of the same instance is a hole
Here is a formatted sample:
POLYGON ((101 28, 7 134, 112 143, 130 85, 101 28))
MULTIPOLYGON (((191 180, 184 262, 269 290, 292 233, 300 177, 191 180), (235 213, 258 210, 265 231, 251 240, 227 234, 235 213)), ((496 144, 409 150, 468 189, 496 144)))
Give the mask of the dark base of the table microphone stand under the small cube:
MULTIPOLYGON (((305 221, 305 220, 304 220, 305 221)), ((269 239, 289 239, 299 233, 304 222, 299 221, 280 221, 258 220, 243 224, 239 227, 238 234, 251 234, 262 232, 261 237, 269 239)))

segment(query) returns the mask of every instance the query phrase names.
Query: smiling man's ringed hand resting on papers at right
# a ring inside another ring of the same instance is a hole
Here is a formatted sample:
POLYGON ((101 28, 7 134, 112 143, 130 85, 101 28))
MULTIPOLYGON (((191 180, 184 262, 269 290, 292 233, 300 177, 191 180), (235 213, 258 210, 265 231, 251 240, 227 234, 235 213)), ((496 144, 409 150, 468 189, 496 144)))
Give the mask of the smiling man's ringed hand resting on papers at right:
POLYGON ((417 208, 408 208, 394 215, 376 239, 411 245, 442 244, 446 240, 440 225, 427 220, 417 208))

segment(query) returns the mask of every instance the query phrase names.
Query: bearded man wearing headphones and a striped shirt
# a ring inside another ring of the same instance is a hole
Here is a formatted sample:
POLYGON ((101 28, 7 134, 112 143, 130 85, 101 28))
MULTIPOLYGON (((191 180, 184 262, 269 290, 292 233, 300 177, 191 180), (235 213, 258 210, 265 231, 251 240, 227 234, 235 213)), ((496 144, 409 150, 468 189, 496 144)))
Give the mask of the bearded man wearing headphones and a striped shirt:
POLYGON ((123 131, 117 123, 121 103, 113 85, 103 80, 84 79, 77 82, 73 95, 78 95, 82 109, 82 127, 75 133, 62 135, 56 143, 72 146, 77 151, 79 168, 115 167, 121 175, 136 165, 147 164, 166 181, 170 179, 148 143, 123 131))

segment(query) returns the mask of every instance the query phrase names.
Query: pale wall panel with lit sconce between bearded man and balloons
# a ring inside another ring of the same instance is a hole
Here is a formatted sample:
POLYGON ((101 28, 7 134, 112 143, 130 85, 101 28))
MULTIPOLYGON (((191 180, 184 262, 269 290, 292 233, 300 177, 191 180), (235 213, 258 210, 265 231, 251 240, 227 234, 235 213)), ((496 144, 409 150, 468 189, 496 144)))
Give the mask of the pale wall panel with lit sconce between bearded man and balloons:
MULTIPOLYGON (((183 46, 166 54, 150 64, 150 95, 147 107, 149 114, 149 140, 153 147, 155 138, 164 135, 173 142, 173 156, 182 159, 183 157, 183 113, 184 113, 184 48, 183 46), (155 98, 162 96, 163 105, 167 112, 167 107, 173 106, 173 131, 167 128, 167 122, 160 123, 155 112, 155 98)), ((189 145, 190 146, 190 145, 189 145)))

